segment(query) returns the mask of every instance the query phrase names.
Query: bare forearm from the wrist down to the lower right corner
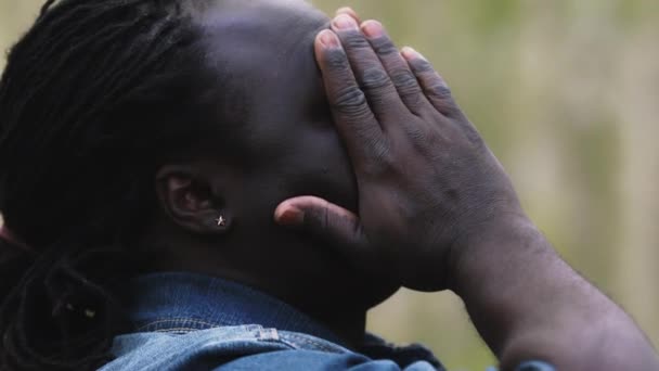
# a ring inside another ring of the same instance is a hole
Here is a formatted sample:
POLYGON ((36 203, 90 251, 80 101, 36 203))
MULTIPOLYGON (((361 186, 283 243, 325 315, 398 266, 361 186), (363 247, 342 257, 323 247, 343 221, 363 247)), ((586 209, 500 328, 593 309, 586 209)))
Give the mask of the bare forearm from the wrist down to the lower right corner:
POLYGON ((530 222, 481 235, 463 246, 453 289, 504 370, 530 359, 558 370, 659 370, 631 318, 530 222))

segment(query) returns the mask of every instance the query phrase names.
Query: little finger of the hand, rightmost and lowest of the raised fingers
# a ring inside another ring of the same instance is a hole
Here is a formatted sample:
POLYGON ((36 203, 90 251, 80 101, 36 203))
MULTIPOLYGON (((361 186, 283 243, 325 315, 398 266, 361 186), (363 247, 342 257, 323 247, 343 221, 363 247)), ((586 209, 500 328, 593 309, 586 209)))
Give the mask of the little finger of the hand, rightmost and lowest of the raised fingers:
POLYGON ((432 106, 448 117, 454 117, 456 114, 460 114, 460 108, 453 100, 451 89, 435 71, 430 62, 419 52, 409 47, 403 48, 401 54, 408 61, 412 73, 416 76, 418 84, 432 106))

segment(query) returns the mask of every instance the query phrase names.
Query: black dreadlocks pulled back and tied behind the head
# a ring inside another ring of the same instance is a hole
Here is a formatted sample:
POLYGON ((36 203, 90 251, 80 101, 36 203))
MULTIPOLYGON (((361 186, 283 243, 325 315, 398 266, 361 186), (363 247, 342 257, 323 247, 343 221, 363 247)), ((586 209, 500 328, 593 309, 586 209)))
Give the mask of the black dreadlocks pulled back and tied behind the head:
POLYGON ((210 130, 192 1, 49 0, 9 53, 0 210, 30 250, 0 239, 0 369, 94 369, 124 331, 155 170, 210 130))

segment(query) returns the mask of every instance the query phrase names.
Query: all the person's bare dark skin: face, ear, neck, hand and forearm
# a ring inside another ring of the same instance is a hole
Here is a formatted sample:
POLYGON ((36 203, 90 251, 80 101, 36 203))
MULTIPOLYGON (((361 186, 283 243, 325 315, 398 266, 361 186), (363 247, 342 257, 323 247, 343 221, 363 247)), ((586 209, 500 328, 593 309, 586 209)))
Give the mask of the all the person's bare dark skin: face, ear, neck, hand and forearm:
POLYGON ((230 145, 238 152, 160 169, 165 213, 145 239, 168 252, 158 269, 254 285, 352 344, 366 309, 398 286, 448 289, 504 370, 529 359, 559 370, 659 369, 629 316, 528 219, 421 54, 399 53, 379 23, 360 27, 350 10, 313 41, 326 18, 302 3, 273 4, 205 16, 215 65, 238 77, 218 99, 245 94, 242 116, 231 116, 242 123, 230 145))

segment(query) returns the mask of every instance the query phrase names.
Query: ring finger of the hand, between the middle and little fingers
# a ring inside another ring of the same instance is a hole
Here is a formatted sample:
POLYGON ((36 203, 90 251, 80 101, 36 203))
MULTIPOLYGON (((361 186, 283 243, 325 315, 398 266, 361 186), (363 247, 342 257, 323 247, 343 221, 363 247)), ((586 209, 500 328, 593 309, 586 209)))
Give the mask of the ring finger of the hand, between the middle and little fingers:
POLYGON ((383 25, 377 21, 366 21, 362 24, 361 29, 408 108, 418 115, 422 110, 429 107, 430 103, 424 95, 410 65, 393 44, 383 25))

